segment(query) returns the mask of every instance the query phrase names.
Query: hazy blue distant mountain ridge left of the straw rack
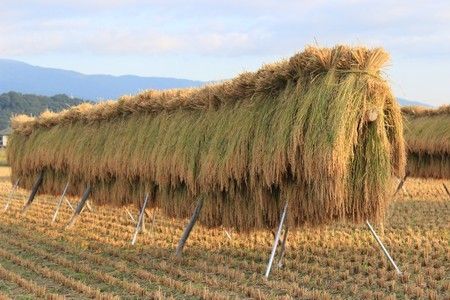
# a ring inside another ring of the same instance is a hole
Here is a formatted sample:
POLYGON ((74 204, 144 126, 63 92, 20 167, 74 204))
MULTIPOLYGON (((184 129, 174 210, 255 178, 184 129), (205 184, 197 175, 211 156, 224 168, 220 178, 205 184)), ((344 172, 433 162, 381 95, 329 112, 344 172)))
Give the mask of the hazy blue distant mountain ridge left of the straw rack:
POLYGON ((196 87, 202 84, 202 81, 164 77, 85 75, 0 59, 0 93, 16 91, 45 96, 67 94, 98 101, 116 99, 144 89, 196 87))

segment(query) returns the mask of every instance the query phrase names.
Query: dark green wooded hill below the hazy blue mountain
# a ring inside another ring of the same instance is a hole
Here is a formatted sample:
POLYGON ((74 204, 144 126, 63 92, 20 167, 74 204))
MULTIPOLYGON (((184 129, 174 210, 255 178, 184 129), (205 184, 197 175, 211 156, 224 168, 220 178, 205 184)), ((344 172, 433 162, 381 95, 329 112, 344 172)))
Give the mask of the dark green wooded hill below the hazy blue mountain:
POLYGON ((46 109, 56 112, 82 102, 85 101, 78 98, 71 98, 67 95, 46 97, 16 92, 1 94, 0 130, 9 127, 9 119, 12 115, 27 114, 36 116, 46 109))

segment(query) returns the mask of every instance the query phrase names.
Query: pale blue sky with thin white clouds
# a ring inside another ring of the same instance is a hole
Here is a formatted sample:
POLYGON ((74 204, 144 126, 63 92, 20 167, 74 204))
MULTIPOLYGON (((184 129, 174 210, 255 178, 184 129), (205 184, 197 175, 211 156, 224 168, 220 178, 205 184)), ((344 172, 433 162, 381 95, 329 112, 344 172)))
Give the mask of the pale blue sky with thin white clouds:
POLYGON ((232 78, 307 45, 383 47, 397 97, 450 104, 450 1, 0 0, 0 57, 86 74, 232 78))

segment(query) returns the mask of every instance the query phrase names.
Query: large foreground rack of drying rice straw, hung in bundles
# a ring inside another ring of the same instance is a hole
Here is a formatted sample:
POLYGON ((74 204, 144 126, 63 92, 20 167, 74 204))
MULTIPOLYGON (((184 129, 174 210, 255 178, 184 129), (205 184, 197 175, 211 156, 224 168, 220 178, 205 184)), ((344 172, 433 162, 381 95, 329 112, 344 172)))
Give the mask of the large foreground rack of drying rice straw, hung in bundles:
POLYGON ((146 91, 12 119, 12 180, 42 193, 151 205, 247 231, 383 216, 404 175, 401 111, 381 76, 382 49, 309 47, 254 73, 198 89, 146 91))

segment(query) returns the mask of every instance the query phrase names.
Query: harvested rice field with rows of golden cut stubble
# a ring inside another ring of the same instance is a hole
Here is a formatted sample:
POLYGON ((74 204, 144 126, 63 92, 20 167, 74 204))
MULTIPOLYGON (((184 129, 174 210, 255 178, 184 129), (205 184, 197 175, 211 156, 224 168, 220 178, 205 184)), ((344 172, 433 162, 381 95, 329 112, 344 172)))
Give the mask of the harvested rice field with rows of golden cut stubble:
POLYGON ((0 299, 450 299, 448 180, 407 180, 384 233, 375 226, 402 275, 366 227, 341 224, 289 232, 284 266, 267 280, 270 232, 197 225, 175 258, 187 220, 148 210, 135 246, 123 208, 85 209, 64 230, 72 210, 64 204, 52 224, 57 197, 38 196, 22 214, 19 189, 3 212, 9 172, 0 167, 0 299))

